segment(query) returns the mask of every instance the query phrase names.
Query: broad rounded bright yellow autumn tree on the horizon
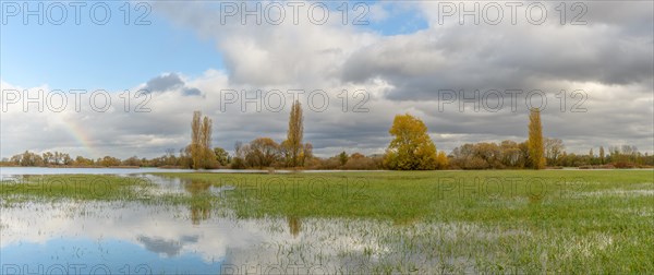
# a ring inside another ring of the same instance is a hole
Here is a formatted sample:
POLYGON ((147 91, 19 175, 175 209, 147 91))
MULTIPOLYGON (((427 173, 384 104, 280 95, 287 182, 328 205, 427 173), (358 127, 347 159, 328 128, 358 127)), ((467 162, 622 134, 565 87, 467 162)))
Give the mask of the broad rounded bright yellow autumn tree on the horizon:
POLYGON ((384 159, 384 165, 388 169, 436 169, 436 146, 422 120, 409 113, 397 115, 388 132, 395 136, 388 145, 384 159))

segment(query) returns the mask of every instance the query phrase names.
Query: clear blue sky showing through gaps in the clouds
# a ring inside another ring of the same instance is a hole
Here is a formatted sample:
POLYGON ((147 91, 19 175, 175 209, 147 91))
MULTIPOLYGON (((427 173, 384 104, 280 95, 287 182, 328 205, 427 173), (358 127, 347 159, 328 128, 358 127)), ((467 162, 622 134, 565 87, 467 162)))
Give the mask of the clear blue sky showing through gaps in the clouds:
MULTIPOLYGON (((29 1, 28 7, 37 9, 37 3, 29 1)), ((82 8, 78 25, 72 14, 61 25, 48 24, 47 19, 44 25, 39 25, 36 16, 28 16, 28 24, 23 24, 22 14, 4 15, 7 24, 1 24, 2 81, 23 87, 47 84, 50 88, 62 91, 120 91, 161 73, 175 72, 193 77, 208 69, 225 69, 216 40, 199 37, 191 28, 175 26, 156 11, 145 17, 152 24, 134 25, 133 22, 144 11, 134 11, 134 3, 131 4, 131 24, 125 25, 121 10, 125 2, 107 3, 112 16, 106 25, 93 24, 84 13, 90 4, 82 8)), ((328 3, 334 12, 338 12, 336 9, 341 2, 328 3)), ((44 2, 44 9, 48 7, 49 3, 44 2)), ((3 4, 3 9, 9 8, 3 4)), ((350 9, 353 9, 352 4, 350 9)), ((412 33, 427 27, 426 21, 415 10, 396 10, 392 16, 383 21, 366 16, 370 24, 359 27, 383 35, 412 33)), ((69 7, 68 11, 72 13, 74 8, 69 7)), ((363 10, 352 11, 350 21, 360 11, 363 10)), ((53 20, 58 20, 59 14, 52 14, 53 20)))

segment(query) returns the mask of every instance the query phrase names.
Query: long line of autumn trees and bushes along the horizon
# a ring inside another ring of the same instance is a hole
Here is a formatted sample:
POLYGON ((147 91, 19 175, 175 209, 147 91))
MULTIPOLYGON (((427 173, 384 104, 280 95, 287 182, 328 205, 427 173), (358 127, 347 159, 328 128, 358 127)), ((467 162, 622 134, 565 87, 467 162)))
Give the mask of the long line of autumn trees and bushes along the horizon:
POLYGON ((60 152, 41 155, 24 152, 2 159, 2 166, 52 167, 161 167, 184 169, 543 169, 543 168, 651 168, 654 156, 642 154, 635 146, 598 147, 595 154, 568 154, 560 139, 544 138, 541 113, 532 109, 529 115, 526 141, 500 143, 467 143, 446 154, 437 151, 422 120, 409 113, 397 115, 389 129, 392 136, 384 154, 363 155, 341 152, 331 157, 313 155, 313 145, 304 142, 304 118, 299 101, 292 105, 286 140, 280 143, 266 136, 249 143, 237 142, 233 154, 211 146, 213 121, 199 111, 191 121, 191 142, 179 150, 169 148, 155 158, 136 156, 119 159, 105 156, 89 159, 72 158, 60 152))

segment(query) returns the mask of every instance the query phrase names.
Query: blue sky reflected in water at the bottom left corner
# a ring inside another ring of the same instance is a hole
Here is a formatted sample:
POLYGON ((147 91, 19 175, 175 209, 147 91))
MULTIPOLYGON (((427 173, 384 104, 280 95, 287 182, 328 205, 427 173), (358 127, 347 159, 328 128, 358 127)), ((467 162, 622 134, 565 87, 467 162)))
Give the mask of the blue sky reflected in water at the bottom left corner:
POLYGON ((96 274, 107 271, 112 274, 216 274, 221 265, 221 262, 207 263, 194 253, 166 256, 120 239, 57 238, 44 243, 25 241, 1 251, 3 271, 19 268, 21 274, 62 274, 61 271, 71 274, 94 271, 96 274))

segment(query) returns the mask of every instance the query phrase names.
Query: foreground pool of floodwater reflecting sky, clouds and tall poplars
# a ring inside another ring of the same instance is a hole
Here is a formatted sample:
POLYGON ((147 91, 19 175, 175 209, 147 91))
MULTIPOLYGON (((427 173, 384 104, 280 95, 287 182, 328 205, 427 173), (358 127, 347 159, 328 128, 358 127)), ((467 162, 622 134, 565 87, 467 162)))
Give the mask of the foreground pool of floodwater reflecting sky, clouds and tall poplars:
POLYGON ((228 187, 150 179, 158 183, 152 192, 189 195, 193 203, 72 200, 3 207, 0 274, 474 273, 475 259, 493 261, 480 247, 500 250, 494 246, 530 236, 461 223, 239 219, 211 204, 228 187))

